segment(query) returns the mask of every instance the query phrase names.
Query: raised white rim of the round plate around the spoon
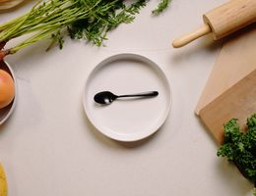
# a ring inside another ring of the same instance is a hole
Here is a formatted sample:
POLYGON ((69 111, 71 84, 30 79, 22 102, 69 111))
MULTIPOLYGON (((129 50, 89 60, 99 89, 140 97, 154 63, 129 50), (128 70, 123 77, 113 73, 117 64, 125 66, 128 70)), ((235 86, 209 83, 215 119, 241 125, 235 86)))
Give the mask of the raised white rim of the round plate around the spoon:
POLYGON ((149 59, 148 57, 145 57, 143 55, 139 55, 136 53, 118 53, 118 54, 114 54, 114 55, 110 55, 106 58, 104 58, 103 60, 99 61, 99 63, 96 64, 96 66, 94 67, 94 69, 89 73, 88 78, 86 79, 86 83, 84 86, 84 90, 83 90, 83 107, 84 107, 84 112, 86 113, 86 116, 89 120, 89 122, 96 128, 97 131, 99 131, 101 134, 105 135, 108 138, 111 138, 113 140, 116 141, 122 141, 122 142, 134 142, 134 141, 139 141, 142 139, 145 139, 151 135, 153 135, 155 132, 157 132, 160 127, 162 126, 162 124, 166 121, 168 115, 169 115, 169 111, 172 105, 172 92, 171 92, 171 88, 170 88, 170 84, 169 84, 169 80, 167 78, 167 76, 165 75, 165 73, 162 71, 162 69, 160 68, 160 66, 155 63, 154 61, 152 61, 151 59, 149 59), (164 89, 167 89, 167 107, 164 110, 163 115, 160 116, 160 121, 158 123, 156 123, 156 125, 154 125, 154 128, 149 128, 149 131, 143 131, 143 132, 139 132, 139 133, 131 133, 131 134, 125 134, 125 133, 117 133, 112 131, 110 128, 107 127, 102 127, 102 125, 98 125, 98 123, 94 123, 94 118, 92 118, 88 106, 87 106, 87 89, 89 86, 89 82, 92 79, 92 76, 96 73, 96 71, 98 69, 100 69, 103 66, 107 66, 109 63, 114 62, 114 61, 119 61, 119 60, 137 60, 137 61, 142 61, 144 63, 146 63, 147 65, 150 65, 153 69, 155 69, 157 72, 160 73, 160 78, 163 80, 164 82, 164 89))

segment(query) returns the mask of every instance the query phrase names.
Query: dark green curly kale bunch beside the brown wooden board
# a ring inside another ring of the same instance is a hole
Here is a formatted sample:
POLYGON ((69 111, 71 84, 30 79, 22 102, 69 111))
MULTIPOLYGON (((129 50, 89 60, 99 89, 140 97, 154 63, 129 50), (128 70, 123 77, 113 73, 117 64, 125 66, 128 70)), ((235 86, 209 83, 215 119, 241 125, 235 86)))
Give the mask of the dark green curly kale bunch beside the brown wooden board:
POLYGON ((256 114, 246 124, 246 131, 241 131, 236 119, 224 124, 224 144, 217 155, 226 157, 256 187, 256 114))

